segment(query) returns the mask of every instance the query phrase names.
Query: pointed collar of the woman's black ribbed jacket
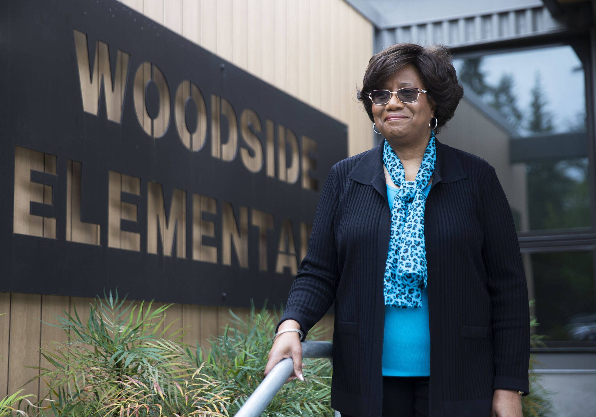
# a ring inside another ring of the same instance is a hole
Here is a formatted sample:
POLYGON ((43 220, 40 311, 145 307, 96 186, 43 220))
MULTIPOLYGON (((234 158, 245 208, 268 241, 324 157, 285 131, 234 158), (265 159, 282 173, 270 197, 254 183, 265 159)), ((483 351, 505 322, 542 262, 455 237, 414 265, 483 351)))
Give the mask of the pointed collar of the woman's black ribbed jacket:
MULTIPOLYGON (((439 142, 436 136, 434 142, 437 159, 434 164, 433 186, 439 182, 454 182, 467 178, 453 148, 439 142)), ((383 142, 368 150, 347 176, 359 183, 373 185, 387 200, 387 186, 383 173, 383 142)))

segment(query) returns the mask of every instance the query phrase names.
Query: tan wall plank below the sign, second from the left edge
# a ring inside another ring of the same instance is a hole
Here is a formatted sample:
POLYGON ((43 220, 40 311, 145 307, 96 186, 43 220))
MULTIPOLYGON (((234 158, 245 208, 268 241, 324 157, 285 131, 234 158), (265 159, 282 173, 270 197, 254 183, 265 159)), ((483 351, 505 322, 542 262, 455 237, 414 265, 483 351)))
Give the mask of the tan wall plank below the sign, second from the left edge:
MULTIPOLYGON (((41 338, 41 295, 16 294, 11 297, 10 306, 10 363, 8 365, 8 392, 17 392, 21 385, 33 376, 36 369, 25 366, 39 366, 39 344, 41 338)), ((26 394, 39 393, 39 379, 23 387, 26 394)))

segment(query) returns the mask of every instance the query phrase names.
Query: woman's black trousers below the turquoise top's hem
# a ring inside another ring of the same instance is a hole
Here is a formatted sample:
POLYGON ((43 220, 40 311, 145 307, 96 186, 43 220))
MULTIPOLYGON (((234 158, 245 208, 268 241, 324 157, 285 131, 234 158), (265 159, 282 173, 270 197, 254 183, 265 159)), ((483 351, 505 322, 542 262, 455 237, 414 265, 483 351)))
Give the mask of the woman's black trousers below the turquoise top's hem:
POLYGON ((429 378, 383 376, 383 417, 429 417, 429 378))

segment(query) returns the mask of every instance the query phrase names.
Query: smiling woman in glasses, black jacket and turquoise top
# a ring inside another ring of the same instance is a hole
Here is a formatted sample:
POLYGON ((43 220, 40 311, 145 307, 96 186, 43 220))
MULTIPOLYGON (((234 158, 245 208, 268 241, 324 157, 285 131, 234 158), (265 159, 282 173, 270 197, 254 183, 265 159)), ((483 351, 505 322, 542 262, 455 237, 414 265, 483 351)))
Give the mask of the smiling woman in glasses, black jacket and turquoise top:
MULTIPOLYGON (((495 169, 436 138, 463 94, 443 46, 399 43, 359 99, 379 146, 335 164, 265 375, 335 303, 331 406, 342 416, 522 417, 529 307, 495 169)), ((490 140, 478 132, 477 140, 490 140)))

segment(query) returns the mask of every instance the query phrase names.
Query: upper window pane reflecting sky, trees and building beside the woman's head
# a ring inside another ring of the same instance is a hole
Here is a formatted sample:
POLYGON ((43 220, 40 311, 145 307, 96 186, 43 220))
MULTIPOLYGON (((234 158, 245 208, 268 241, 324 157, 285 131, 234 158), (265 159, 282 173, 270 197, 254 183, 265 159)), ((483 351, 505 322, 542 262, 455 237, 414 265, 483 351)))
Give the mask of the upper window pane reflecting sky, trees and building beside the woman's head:
POLYGON ((439 139, 495 167, 517 231, 589 228, 584 70, 572 46, 454 65, 464 98, 439 139))

